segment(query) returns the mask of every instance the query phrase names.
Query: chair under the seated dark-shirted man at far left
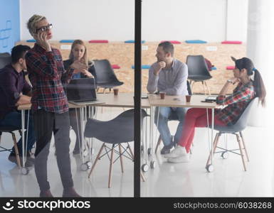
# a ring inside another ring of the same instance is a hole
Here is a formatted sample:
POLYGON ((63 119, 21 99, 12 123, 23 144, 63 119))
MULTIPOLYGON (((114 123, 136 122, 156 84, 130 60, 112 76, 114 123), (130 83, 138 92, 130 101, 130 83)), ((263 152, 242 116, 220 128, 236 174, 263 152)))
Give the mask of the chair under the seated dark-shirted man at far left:
POLYGON ((21 129, 19 129, 17 127, 14 127, 14 126, 0 126, 0 148, 1 148, 0 152, 3 152, 3 151, 11 152, 11 148, 8 149, 8 148, 4 148, 3 146, 1 146, 1 135, 2 135, 2 133, 3 132, 11 133, 12 140, 14 141, 14 150, 15 150, 15 154, 16 154, 17 165, 19 166, 19 168, 21 168, 19 150, 18 150, 18 147, 17 147, 16 136, 15 136, 14 131, 19 131, 20 135, 22 136, 21 129))

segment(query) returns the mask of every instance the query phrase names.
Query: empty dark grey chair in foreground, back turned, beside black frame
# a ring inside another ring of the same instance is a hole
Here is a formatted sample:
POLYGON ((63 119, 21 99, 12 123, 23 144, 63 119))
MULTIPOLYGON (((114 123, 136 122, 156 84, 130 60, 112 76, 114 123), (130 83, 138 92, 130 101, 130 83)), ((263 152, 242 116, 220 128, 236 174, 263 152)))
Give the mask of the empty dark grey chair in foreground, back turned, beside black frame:
MULTIPOLYGON (((146 111, 142 109, 141 121, 144 117, 148 116, 146 111)), ((97 138, 99 141, 102 141, 102 146, 100 151, 93 163, 93 167, 90 170, 88 178, 90 178, 93 169, 95 168, 96 163, 102 156, 107 155, 110 159, 110 171, 108 177, 108 187, 111 187, 111 178, 112 178, 112 165, 116 160, 120 158, 122 173, 124 172, 122 156, 134 160, 134 155, 130 144, 128 142, 134 141, 134 109, 129 109, 122 112, 115 119, 110 121, 98 121, 96 119, 88 119, 87 124, 85 125, 84 136, 87 138, 97 138), (112 144, 112 148, 107 147, 106 143, 112 144), (122 146, 121 143, 127 143, 127 147, 122 146), (115 148, 118 147, 119 151, 116 151, 115 148), (105 148, 105 153, 101 155, 102 150, 105 148), (129 150, 129 151, 128 151, 129 150), (113 160, 113 153, 117 153, 118 156, 113 160), (110 153, 110 155, 109 155, 110 153)), ((142 173, 141 173, 142 175, 142 173)), ((144 177, 141 176, 144 180, 144 177)))

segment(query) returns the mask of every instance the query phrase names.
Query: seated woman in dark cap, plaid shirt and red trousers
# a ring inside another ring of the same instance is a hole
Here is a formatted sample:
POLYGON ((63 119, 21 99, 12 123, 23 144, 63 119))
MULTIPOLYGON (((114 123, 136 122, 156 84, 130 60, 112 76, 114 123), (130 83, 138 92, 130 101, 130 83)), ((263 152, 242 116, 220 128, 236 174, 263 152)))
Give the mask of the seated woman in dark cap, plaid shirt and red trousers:
MULTIPOLYGON (((238 60, 233 57, 231 58, 235 62, 234 77, 226 81, 216 99, 217 104, 226 105, 225 108, 214 111, 214 124, 218 126, 231 126, 235 124, 254 97, 258 97, 260 103, 263 106, 265 105, 265 86, 260 72, 255 69, 253 62, 249 58, 238 60), (254 75, 254 80, 251 80, 251 75, 254 75), (236 83, 238 85, 233 90, 233 94, 226 97, 229 86, 236 83)), ((211 110, 209 110, 209 125, 211 125, 211 110)), ((164 155, 165 158, 168 158, 168 162, 189 162, 189 151, 194 138, 195 127, 206 126, 206 109, 189 109, 186 113, 183 133, 181 134, 178 146, 171 153, 164 155)))

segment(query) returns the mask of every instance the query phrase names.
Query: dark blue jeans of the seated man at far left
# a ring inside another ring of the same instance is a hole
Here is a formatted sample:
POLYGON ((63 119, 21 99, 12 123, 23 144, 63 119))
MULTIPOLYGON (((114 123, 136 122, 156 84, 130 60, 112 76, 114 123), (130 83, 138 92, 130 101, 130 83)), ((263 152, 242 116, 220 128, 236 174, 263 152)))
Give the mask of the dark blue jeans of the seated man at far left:
MULTIPOLYGON (((33 130, 33 118, 29 116, 29 121, 28 121, 28 111, 26 111, 26 116, 25 116, 25 129, 27 128, 28 125, 28 141, 26 140, 27 136, 27 131, 25 132, 25 148, 27 151, 30 151, 31 148, 33 147, 33 144, 35 143, 35 134, 33 130), (26 143, 28 144, 26 145, 26 143)), ((4 119, 0 120, 0 126, 14 126, 18 128, 22 128, 21 125, 21 111, 11 111, 9 114, 6 114, 4 119)), ((18 149, 19 149, 19 155, 22 155, 22 138, 17 143, 18 149)), ((15 153, 14 147, 12 148, 12 152, 15 153)))

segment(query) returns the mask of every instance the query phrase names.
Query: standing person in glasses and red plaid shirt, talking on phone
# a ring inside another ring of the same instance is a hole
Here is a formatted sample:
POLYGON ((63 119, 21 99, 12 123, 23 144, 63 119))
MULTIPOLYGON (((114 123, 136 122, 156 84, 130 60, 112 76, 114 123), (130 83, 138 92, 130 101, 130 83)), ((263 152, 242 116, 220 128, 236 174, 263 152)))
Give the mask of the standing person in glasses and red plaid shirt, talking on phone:
POLYGON ((60 51, 51 48, 52 24, 46 17, 33 15, 28 20, 28 31, 36 43, 26 54, 26 65, 33 85, 31 109, 36 133, 35 173, 40 197, 53 197, 47 176, 47 160, 52 132, 56 157, 63 184, 63 197, 80 197, 73 188, 70 168, 68 99, 63 84, 70 80, 73 70, 87 69, 80 61, 73 62, 65 71, 60 51))

